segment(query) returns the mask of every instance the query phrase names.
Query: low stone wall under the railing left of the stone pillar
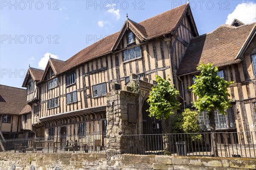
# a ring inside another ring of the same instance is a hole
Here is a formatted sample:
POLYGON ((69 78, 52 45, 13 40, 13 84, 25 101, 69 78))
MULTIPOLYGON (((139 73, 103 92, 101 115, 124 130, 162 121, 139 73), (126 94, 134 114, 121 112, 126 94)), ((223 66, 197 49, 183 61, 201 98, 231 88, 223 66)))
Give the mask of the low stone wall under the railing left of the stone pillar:
POLYGON ((0 153, 0 170, 106 170, 105 153, 0 153))

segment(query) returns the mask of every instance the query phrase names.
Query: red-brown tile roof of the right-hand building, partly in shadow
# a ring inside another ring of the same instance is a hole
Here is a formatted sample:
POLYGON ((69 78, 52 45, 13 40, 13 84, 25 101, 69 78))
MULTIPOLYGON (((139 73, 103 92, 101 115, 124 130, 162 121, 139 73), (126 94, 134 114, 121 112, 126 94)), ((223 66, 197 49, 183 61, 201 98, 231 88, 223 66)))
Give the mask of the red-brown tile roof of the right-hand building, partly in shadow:
POLYGON ((224 24, 212 33, 192 38, 177 75, 195 72, 202 63, 221 66, 238 62, 235 57, 255 26, 255 23, 239 27, 224 24))

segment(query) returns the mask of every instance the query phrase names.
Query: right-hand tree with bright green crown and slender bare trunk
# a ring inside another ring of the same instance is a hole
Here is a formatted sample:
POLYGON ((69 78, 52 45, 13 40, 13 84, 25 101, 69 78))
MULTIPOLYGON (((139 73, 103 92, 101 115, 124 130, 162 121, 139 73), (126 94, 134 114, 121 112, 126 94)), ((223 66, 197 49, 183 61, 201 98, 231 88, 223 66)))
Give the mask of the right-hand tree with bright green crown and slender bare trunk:
POLYGON ((217 140, 216 140, 216 125, 214 119, 214 111, 218 111, 222 114, 226 114, 225 109, 230 108, 230 94, 227 91, 227 87, 230 86, 230 82, 225 81, 223 78, 217 75, 218 68, 213 67, 212 64, 202 64, 197 67, 200 71, 199 76, 194 79, 195 83, 191 87, 192 93, 198 96, 198 99, 193 103, 198 111, 208 111, 209 124, 212 136, 212 156, 218 156, 217 140))

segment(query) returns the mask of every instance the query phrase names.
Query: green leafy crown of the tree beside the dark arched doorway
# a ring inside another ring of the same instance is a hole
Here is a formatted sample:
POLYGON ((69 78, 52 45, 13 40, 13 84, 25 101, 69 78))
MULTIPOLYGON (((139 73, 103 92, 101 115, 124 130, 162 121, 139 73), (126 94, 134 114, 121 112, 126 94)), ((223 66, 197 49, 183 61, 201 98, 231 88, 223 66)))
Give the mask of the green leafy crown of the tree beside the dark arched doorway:
POLYGON ((159 120, 164 116, 167 119, 179 109, 180 103, 176 99, 179 91, 170 83, 171 79, 165 80, 156 75, 156 81, 157 85, 152 87, 147 100, 150 105, 147 110, 150 113, 148 116, 153 116, 159 120))

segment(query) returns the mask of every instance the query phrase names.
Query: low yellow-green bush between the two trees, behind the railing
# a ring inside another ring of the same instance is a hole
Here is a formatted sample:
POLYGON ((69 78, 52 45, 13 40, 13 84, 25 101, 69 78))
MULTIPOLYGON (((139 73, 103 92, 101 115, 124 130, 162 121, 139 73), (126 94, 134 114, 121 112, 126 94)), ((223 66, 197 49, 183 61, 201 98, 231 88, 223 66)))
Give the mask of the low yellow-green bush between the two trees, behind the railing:
MULTIPOLYGON (((200 133, 198 124, 198 112, 185 109, 183 113, 177 114, 174 118, 173 133, 200 133)), ((192 134, 192 140, 201 139, 200 134, 192 134)))

